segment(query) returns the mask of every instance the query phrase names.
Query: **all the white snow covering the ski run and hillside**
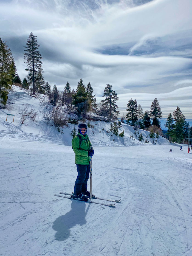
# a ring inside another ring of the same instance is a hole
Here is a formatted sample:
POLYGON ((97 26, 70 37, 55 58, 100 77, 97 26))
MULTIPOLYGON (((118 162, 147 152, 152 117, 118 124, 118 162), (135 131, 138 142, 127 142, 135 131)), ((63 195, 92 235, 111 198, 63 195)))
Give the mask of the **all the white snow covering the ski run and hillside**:
POLYGON ((110 208, 55 197, 70 193, 77 177, 70 144, 74 125, 60 134, 40 112, 35 122, 21 125, 17 109, 25 102, 41 110, 39 99, 27 94, 9 112, 16 115, 14 123, 0 110, 0 255, 192 255, 187 146, 181 151, 162 137, 156 145, 130 139, 128 125, 121 128, 124 141, 113 141, 105 133, 110 123, 97 121, 89 131, 92 192, 121 202, 110 208))

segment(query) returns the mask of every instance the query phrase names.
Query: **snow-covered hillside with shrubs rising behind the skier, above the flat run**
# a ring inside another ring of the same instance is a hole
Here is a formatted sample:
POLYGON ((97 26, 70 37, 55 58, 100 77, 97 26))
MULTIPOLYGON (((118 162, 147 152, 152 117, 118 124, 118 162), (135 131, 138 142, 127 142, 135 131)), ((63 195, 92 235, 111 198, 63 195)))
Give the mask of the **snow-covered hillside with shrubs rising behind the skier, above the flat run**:
MULTIPOLYGON (((36 141, 50 141, 50 143, 71 145, 72 136, 70 135, 74 126, 77 125, 68 123, 68 126, 61 128, 61 132, 58 132, 54 125, 50 126, 44 119, 44 112, 49 113, 52 106, 48 105, 44 95, 39 95, 39 98, 31 97, 28 95, 27 90, 23 90, 18 86, 13 86, 13 91, 9 94, 9 102, 12 103, 12 110, 0 109, 0 137, 8 136, 15 139, 19 137, 22 140, 36 140, 36 141), (21 125, 20 115, 18 113, 19 108, 29 106, 37 112, 35 121, 26 120, 21 125), (13 117, 7 114, 15 114, 15 120, 12 122, 13 117)), ((87 121, 86 121, 87 123, 87 121)), ((133 127, 122 123, 122 127, 119 128, 119 133, 123 130, 125 132, 124 137, 119 137, 110 132, 110 122, 103 121, 91 121, 91 127, 88 129, 87 134, 94 146, 131 146, 141 145, 145 143, 147 139, 149 144, 153 143, 153 139, 149 137, 149 132, 139 129, 136 134, 133 127), (109 131, 109 133, 107 132, 109 131), (139 133, 143 134, 143 141, 139 141, 139 133), (130 137, 131 136, 131 137, 130 137), (147 138, 148 136, 148 138, 147 138)), ((159 137, 154 139, 155 144, 169 144, 168 140, 159 137), (157 141, 155 141, 157 140, 157 141)))

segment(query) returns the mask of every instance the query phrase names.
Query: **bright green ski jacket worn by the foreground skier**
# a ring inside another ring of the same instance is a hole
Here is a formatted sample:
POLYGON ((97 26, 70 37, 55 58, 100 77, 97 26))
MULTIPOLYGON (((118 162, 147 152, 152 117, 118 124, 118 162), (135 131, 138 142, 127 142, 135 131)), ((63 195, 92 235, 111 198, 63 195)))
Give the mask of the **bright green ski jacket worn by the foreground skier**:
POLYGON ((91 157, 88 156, 88 150, 90 150, 90 147, 92 147, 91 141, 89 140, 87 134, 85 137, 80 133, 78 134, 82 138, 81 145, 79 145, 79 137, 75 136, 72 139, 72 147, 73 151, 75 152, 75 164, 90 164, 91 157))

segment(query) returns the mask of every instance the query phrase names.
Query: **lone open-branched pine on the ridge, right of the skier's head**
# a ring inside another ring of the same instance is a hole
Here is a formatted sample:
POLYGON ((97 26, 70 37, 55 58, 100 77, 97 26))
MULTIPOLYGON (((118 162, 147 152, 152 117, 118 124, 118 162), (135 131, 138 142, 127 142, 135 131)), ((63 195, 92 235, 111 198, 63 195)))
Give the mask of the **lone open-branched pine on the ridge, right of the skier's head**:
POLYGON ((105 106, 108 107, 109 117, 116 119, 120 112, 120 111, 117 111, 118 106, 116 105, 116 102, 117 100, 119 100, 119 98, 117 97, 117 93, 112 90, 112 85, 109 85, 109 84, 106 85, 104 89, 103 97, 106 97, 106 98, 104 100, 101 100, 101 103, 103 103, 105 106))

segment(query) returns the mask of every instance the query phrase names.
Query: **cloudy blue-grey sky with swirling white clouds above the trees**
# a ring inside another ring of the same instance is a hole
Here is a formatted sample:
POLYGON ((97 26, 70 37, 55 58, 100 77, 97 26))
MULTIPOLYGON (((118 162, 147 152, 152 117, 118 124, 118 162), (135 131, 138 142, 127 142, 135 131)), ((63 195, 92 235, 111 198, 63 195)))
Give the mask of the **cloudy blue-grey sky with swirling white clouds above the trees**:
POLYGON ((0 37, 21 79, 23 46, 37 36, 44 79, 62 90, 91 83, 97 102, 109 83, 120 114, 154 98, 163 117, 179 106, 192 118, 191 0, 0 0, 0 37))

